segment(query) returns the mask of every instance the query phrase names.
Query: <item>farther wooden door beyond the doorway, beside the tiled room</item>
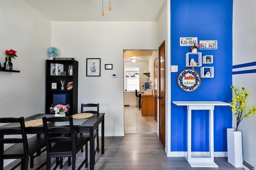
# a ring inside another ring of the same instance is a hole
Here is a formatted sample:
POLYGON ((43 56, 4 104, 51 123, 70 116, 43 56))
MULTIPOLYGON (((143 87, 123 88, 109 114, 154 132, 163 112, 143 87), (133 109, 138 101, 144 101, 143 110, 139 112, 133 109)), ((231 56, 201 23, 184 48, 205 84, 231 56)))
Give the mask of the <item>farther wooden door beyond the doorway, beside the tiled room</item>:
POLYGON ((157 58, 154 60, 154 118, 157 122, 157 58))

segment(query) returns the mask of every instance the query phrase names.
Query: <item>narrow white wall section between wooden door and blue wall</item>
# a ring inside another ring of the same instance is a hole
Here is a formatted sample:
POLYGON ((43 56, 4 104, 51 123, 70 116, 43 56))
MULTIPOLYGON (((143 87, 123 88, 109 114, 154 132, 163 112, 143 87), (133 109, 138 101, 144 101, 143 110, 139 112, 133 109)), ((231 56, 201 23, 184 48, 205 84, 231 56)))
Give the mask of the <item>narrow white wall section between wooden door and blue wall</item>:
MULTIPOLYGON (((166 120, 166 128, 165 128, 165 152, 167 156, 170 156, 170 101, 171 101, 171 84, 170 84, 170 77, 171 77, 171 71, 170 71, 170 0, 167 0, 164 4, 164 8, 162 10, 162 13, 158 19, 158 47, 162 44, 163 41, 165 41, 165 120, 166 120)), ((158 88, 159 89, 159 88, 158 88)), ((159 93, 159 91, 158 91, 159 93)), ((158 95, 159 96, 159 95, 158 95)), ((159 108, 158 108, 159 110, 159 108)), ((159 114, 158 114, 159 115, 159 114)), ((158 123, 159 123, 159 117, 158 117, 158 123)), ((159 129, 158 129, 159 133, 159 129)))

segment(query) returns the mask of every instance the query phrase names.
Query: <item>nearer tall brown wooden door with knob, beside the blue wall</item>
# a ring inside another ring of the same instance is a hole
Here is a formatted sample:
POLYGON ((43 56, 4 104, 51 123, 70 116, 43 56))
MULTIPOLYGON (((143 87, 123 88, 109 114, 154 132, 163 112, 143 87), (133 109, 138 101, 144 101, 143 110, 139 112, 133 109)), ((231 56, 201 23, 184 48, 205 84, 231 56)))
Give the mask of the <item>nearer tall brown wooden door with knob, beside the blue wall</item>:
POLYGON ((159 138, 165 146, 165 42, 158 48, 159 61, 159 138))

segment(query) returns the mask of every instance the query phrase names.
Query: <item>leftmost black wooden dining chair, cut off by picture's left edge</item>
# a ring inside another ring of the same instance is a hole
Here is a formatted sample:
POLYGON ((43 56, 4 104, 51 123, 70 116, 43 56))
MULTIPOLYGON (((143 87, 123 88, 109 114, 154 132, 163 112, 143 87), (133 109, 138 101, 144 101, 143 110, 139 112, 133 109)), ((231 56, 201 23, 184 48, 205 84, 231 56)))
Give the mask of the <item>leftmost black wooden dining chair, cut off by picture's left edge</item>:
MULTIPOLYGON (((30 168, 32 168, 34 158, 38 156, 38 153, 41 154, 41 149, 46 146, 44 138, 27 138, 24 117, 0 118, 0 123, 16 123, 10 127, 0 128, 0 169, 3 169, 4 159, 21 159, 21 162, 12 169, 21 165, 22 170, 27 170, 29 157, 30 168), (4 149, 4 144, 13 145, 4 149), (34 156, 35 153, 37 153, 36 156, 34 156)), ((40 169, 44 165, 45 162, 36 169, 40 169)))

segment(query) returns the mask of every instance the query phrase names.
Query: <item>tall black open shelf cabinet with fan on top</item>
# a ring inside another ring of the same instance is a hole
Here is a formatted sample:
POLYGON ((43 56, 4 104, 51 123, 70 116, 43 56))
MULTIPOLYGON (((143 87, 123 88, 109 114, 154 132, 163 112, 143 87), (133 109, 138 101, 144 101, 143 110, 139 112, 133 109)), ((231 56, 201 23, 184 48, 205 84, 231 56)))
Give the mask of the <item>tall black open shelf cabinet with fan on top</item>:
POLYGON ((78 107, 77 96, 78 96, 78 61, 46 60, 45 113, 50 113, 50 107, 56 104, 70 104, 69 115, 78 113, 77 112, 77 107, 78 107), (68 74, 70 65, 73 66, 73 71, 72 71, 73 74, 71 75, 68 74), (55 75, 56 73, 53 72, 54 67, 57 75, 55 75), (62 82, 65 81, 64 89, 62 87, 61 81, 62 82), (68 83, 70 85, 68 85, 68 83), (67 85, 68 85, 68 88, 67 88, 67 85), (61 98, 56 99, 56 96, 61 98), (62 103, 61 101, 68 101, 68 103, 62 103))

